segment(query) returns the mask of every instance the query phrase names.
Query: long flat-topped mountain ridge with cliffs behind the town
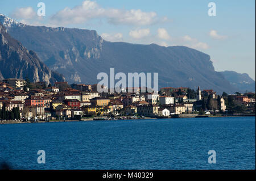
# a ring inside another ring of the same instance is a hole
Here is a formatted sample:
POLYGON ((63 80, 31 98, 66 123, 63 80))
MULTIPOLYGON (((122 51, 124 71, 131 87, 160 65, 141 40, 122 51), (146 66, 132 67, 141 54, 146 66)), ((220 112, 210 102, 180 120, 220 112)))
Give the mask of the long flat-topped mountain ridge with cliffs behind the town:
POLYGON ((183 46, 161 47, 105 41, 96 31, 44 26, 11 26, 8 32, 34 50, 69 83, 97 83, 97 74, 158 72, 159 87, 191 87, 232 93, 236 88, 214 70, 210 56, 183 46))

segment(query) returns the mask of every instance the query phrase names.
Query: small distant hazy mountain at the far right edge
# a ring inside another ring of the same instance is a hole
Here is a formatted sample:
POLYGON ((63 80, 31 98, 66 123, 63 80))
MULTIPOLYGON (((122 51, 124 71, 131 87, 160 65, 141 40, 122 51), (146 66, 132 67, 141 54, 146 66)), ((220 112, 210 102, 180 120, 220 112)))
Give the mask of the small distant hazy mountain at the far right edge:
POLYGON ((240 74, 236 71, 220 71, 220 73, 238 90, 255 92, 255 81, 248 74, 240 74))

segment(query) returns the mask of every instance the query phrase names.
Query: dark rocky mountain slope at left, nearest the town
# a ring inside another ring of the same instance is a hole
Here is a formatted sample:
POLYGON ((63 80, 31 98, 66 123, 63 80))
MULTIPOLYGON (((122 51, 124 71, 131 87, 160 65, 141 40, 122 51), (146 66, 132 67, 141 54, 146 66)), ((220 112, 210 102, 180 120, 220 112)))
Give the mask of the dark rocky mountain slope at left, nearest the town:
POLYGON ((64 77, 50 70, 41 62, 33 50, 28 51, 23 45, 13 39, 0 23, 0 79, 25 78, 31 81, 53 83, 63 81, 64 77))

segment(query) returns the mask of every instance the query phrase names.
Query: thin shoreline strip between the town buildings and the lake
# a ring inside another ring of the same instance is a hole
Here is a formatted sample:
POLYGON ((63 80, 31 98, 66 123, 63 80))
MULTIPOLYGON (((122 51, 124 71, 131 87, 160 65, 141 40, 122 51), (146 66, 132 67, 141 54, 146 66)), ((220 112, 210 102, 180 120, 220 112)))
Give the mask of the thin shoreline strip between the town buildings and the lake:
MULTIPOLYGON (((209 116, 207 118, 213 118, 213 117, 255 117, 255 115, 229 115, 229 116, 209 116)), ((175 117, 175 118, 169 118, 169 119, 184 119, 184 118, 196 118, 196 117, 175 117)), ((200 118, 200 117, 197 117, 200 118)), ((116 121, 116 120, 143 120, 143 119, 162 119, 159 117, 144 117, 139 119, 113 119, 113 120, 100 120, 100 121, 116 121)), ((168 119, 168 118, 167 118, 168 119)), ((48 122, 46 121, 38 121, 35 123, 60 123, 60 122, 79 122, 79 121, 99 121, 99 120, 93 120, 93 118, 87 118, 87 119, 81 119, 81 120, 50 120, 48 122)), ((31 122, 23 122, 23 121, 15 121, 15 120, 7 120, 7 121, 0 121, 1 124, 26 124, 31 122)))

